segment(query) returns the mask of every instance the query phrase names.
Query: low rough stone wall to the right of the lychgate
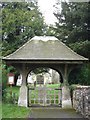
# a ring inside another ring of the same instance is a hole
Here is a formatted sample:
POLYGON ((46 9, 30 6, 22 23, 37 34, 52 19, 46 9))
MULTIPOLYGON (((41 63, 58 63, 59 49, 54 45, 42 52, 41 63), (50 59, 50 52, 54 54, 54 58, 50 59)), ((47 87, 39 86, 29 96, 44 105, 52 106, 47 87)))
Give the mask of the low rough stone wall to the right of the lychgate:
POLYGON ((73 107, 90 119, 90 86, 78 86, 73 91, 73 107))

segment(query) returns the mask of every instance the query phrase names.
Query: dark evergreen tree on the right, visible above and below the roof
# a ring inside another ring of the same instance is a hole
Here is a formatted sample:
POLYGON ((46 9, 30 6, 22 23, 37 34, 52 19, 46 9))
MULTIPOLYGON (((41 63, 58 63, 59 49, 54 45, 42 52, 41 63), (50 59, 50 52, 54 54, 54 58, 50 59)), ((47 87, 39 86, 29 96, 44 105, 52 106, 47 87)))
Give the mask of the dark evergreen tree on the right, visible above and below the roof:
MULTIPOLYGON (((90 59, 90 3, 62 3, 57 17, 55 35, 75 52, 90 59)), ((69 76, 69 83, 90 85, 90 64, 79 66, 69 76)))

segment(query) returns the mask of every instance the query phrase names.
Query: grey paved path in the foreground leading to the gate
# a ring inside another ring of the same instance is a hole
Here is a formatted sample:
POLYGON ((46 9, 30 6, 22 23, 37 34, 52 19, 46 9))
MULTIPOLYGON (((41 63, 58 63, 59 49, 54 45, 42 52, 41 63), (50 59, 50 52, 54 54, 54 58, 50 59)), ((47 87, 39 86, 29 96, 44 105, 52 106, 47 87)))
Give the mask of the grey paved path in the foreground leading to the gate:
POLYGON ((61 108, 31 108, 29 118, 77 118, 77 120, 85 120, 74 109, 61 108))

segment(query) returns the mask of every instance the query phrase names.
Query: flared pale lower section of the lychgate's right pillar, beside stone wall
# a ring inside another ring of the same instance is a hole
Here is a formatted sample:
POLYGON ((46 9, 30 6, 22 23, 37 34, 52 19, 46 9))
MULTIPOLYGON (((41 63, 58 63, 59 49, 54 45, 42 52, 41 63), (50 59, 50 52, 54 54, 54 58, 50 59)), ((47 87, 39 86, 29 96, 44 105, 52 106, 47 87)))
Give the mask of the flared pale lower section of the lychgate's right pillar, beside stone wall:
POLYGON ((62 88, 62 108, 72 108, 70 90, 68 86, 62 88))

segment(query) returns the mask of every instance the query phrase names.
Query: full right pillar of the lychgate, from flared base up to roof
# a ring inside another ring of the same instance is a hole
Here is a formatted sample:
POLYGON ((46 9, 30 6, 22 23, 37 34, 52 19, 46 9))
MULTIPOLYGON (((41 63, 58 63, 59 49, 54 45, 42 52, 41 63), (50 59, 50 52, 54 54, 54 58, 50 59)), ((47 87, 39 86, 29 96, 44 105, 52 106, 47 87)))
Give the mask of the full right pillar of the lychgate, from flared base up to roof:
POLYGON ((68 84, 68 65, 65 64, 63 71, 63 87, 62 87, 62 107, 63 108, 71 108, 71 97, 70 97, 70 89, 68 84))

